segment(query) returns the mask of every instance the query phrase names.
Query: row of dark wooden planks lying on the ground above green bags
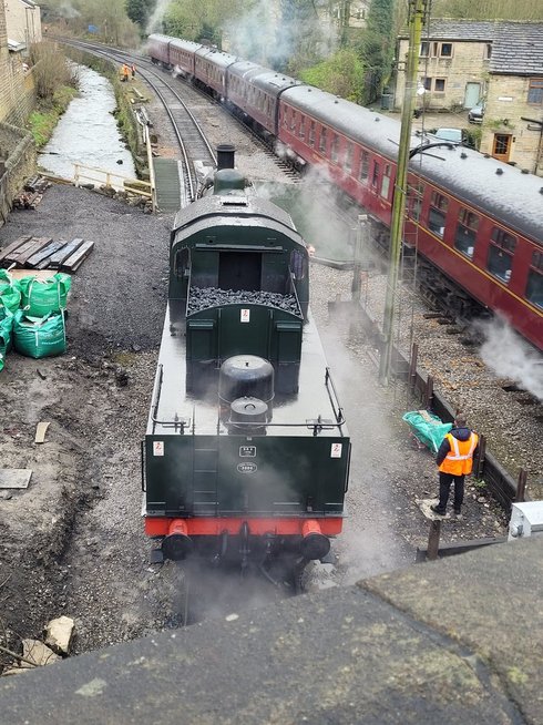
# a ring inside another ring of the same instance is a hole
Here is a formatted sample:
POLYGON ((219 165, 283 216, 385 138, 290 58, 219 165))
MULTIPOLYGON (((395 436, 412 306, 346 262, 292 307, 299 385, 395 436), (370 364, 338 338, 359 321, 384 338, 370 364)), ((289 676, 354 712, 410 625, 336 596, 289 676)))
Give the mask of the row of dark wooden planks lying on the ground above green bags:
POLYGON ((91 254, 94 242, 85 239, 59 239, 50 237, 21 236, 0 249, 0 266, 16 265, 29 269, 60 269, 76 272, 91 254))

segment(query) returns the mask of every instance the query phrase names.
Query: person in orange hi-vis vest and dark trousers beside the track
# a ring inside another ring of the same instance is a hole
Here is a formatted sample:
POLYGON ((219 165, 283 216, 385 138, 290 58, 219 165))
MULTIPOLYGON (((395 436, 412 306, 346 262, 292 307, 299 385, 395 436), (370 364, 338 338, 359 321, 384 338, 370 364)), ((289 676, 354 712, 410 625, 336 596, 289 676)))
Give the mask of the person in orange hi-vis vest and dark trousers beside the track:
POLYGON ((464 500, 464 477, 471 473, 477 456, 479 436, 468 428, 463 413, 457 413, 454 427, 439 447, 436 462, 439 466, 439 503, 430 507, 444 515, 451 483, 454 481, 454 513, 460 515, 464 500))

